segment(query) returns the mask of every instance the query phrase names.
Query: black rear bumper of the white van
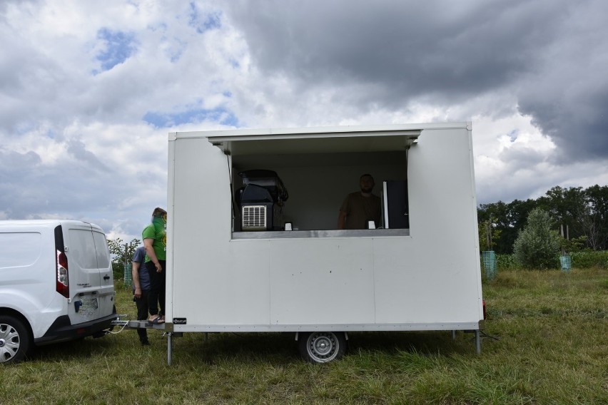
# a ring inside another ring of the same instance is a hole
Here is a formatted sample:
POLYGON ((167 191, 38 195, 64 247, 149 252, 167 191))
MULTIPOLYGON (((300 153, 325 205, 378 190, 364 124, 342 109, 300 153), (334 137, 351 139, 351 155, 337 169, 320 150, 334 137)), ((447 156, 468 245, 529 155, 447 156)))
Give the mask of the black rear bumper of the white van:
POLYGON ((69 340, 80 339, 94 334, 99 334, 105 329, 111 329, 112 321, 118 319, 118 314, 114 313, 107 317, 98 318, 93 321, 81 324, 71 324, 70 318, 63 315, 51 324, 44 336, 34 339, 37 345, 67 342, 69 340))

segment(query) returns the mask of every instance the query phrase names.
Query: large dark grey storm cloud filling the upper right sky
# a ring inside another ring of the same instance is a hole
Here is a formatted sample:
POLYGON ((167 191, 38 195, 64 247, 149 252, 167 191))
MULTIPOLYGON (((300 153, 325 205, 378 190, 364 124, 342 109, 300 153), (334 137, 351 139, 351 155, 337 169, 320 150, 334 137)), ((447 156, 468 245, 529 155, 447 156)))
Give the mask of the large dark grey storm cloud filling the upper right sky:
POLYGON ((607 1, 242 1, 229 14, 255 65, 298 91, 364 83, 361 110, 506 91, 562 153, 608 156, 607 1))

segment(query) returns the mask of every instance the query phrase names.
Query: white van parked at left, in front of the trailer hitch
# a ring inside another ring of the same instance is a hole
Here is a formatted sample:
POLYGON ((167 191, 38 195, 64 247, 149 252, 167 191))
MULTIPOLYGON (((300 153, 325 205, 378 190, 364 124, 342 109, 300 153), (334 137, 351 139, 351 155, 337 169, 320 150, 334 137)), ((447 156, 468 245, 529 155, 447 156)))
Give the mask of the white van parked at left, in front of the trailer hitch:
POLYGON ((106 235, 71 220, 0 221, 0 363, 101 337, 116 319, 106 235))

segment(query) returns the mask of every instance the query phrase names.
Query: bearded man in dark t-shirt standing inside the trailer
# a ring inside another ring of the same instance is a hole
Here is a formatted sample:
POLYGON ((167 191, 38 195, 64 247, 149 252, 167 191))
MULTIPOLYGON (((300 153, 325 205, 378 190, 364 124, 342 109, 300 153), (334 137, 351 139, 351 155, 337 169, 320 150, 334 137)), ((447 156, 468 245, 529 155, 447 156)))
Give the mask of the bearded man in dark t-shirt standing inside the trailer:
POLYGON ((359 178, 361 191, 350 193, 344 199, 338 215, 338 229, 367 229, 368 222, 380 226, 382 203, 380 197, 372 194, 374 178, 366 173, 359 178))

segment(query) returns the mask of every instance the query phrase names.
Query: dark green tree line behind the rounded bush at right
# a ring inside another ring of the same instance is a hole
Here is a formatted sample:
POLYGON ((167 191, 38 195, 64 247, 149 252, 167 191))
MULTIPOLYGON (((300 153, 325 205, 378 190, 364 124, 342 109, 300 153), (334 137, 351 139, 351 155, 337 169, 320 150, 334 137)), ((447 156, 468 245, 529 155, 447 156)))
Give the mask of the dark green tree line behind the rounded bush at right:
POLYGON ((528 215, 539 208, 549 213, 554 230, 569 239, 570 249, 607 250, 608 186, 556 186, 536 200, 491 202, 477 208, 481 250, 511 254, 528 215))

